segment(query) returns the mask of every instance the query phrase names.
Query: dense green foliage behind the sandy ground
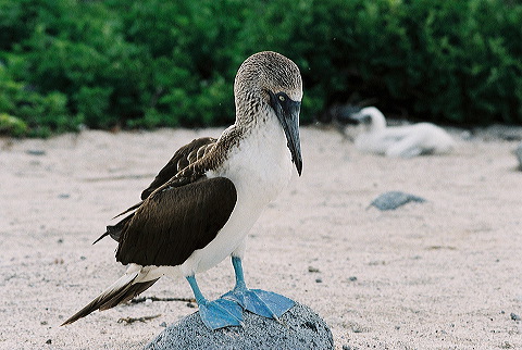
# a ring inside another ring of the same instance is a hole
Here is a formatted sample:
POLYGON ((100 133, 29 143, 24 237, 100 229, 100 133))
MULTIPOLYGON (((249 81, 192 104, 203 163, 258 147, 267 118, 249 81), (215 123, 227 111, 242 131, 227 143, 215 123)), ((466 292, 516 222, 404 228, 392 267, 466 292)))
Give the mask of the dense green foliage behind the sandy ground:
POLYGON ((0 0, 0 113, 25 135, 228 124, 235 72, 261 50, 301 68, 303 123, 365 99, 425 121, 522 123, 510 0, 0 0))

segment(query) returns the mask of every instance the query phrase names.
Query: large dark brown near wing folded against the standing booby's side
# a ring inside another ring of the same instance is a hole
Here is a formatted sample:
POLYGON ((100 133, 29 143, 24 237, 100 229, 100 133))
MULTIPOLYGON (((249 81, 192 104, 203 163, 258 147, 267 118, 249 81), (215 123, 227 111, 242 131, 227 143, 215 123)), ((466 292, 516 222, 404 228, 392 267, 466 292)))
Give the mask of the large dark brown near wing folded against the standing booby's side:
POLYGON ((122 229, 116 260, 123 264, 179 265, 215 238, 237 201, 225 177, 173 178, 136 210, 122 229))

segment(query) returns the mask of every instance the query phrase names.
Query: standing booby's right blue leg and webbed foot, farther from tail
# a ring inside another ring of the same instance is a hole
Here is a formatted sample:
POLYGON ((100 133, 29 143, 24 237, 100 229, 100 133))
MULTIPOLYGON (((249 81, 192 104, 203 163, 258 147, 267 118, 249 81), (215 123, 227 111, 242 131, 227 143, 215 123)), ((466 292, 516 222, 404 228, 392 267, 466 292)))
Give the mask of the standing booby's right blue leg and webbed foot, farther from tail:
POLYGON ((233 290, 223 295, 222 299, 233 300, 239 303, 245 310, 254 314, 278 320, 282 314, 287 312, 296 303, 294 300, 273 291, 261 289, 248 289, 243 274, 241 259, 232 257, 232 264, 236 272, 236 286, 233 290))

